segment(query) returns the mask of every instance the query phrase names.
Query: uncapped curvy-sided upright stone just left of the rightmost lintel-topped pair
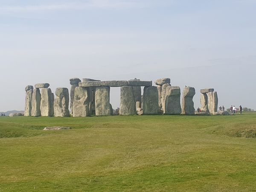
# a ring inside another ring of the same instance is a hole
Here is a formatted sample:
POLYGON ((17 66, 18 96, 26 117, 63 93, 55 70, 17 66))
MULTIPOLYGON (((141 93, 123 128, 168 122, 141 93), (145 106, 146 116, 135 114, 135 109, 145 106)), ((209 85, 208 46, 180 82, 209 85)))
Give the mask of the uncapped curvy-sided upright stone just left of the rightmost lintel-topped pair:
POLYGON ((182 114, 186 114, 186 115, 195 114, 195 108, 194 108, 194 102, 193 102, 194 95, 195 95, 194 87, 186 86, 183 89, 182 106, 181 106, 182 114))

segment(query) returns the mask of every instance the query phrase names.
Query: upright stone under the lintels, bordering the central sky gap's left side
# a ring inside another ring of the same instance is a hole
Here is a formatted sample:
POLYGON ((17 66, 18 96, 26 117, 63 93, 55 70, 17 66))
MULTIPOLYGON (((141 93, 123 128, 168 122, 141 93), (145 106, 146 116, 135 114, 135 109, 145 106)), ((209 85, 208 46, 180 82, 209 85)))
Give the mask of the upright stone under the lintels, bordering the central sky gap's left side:
MULTIPOLYGON (((96 81, 95 81, 96 82, 96 81)), ((101 86, 96 87, 95 92, 95 113, 96 116, 111 115, 110 106, 110 87, 101 86)))

